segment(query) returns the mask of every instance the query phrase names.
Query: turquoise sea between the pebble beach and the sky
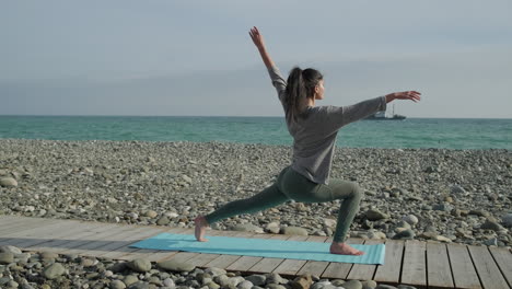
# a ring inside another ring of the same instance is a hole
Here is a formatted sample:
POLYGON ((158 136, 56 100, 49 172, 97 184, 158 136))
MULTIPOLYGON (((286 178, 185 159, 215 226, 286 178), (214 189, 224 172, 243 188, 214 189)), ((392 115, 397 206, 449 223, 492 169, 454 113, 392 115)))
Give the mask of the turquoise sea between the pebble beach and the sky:
MULTIPOLYGON (((283 117, 0 116, 0 139, 293 143, 283 117)), ((512 119, 407 118, 342 127, 338 147, 512 150, 512 119)))

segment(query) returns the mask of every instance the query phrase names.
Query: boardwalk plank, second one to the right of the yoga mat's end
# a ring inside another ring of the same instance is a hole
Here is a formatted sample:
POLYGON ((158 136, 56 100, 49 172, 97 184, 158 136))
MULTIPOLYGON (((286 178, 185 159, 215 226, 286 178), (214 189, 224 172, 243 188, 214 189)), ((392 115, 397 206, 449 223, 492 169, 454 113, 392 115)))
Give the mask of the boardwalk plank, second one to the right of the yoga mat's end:
POLYGON ((427 287, 426 244, 408 240, 405 243, 402 284, 427 287))

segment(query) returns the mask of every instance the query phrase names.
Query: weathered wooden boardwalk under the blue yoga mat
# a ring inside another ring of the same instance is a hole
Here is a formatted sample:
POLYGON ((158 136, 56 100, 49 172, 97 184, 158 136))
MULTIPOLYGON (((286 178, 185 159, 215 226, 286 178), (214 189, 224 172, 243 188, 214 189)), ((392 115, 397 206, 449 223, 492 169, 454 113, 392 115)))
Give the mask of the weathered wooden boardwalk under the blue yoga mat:
MULTIPOLYGON (((387 240, 383 266, 129 247, 135 242, 162 232, 194 233, 193 229, 170 227, 0 216, 0 246, 13 245, 32 252, 47 251, 126 261, 138 257, 154 262, 173 258, 197 267, 219 267, 247 274, 278 273, 290 277, 309 273, 321 278, 375 280, 377 284, 407 284, 418 288, 512 287, 512 254, 500 247, 387 240)), ((330 238, 325 236, 213 230, 207 234, 331 242, 330 238)), ((383 241, 349 240, 353 244, 380 242, 383 241)))

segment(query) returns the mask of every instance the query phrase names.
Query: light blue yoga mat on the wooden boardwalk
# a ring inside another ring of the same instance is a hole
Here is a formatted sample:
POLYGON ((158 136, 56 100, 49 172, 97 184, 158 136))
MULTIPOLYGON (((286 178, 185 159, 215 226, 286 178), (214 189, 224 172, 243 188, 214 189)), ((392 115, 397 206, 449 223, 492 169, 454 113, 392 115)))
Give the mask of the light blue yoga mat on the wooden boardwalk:
POLYGON ((130 245, 130 247, 272 258, 384 264, 384 244, 351 244, 351 246, 364 251, 364 255, 347 256, 330 254, 330 243, 214 235, 206 236, 206 239, 208 239, 208 242, 198 242, 191 234, 161 233, 150 239, 137 242, 130 245))

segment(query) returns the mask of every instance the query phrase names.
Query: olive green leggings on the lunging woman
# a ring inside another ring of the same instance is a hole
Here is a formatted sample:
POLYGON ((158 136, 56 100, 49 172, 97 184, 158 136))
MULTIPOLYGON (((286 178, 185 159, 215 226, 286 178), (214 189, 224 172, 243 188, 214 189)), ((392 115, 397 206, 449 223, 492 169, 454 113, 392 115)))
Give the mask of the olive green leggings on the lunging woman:
POLYGON ((293 199, 302 203, 324 203, 342 199, 334 235, 335 242, 345 242, 347 232, 359 210, 362 189, 351 182, 330 180, 328 185, 316 184, 290 166, 283 169, 275 184, 246 199, 234 200, 205 216, 208 223, 237 216, 254 213, 293 199))

